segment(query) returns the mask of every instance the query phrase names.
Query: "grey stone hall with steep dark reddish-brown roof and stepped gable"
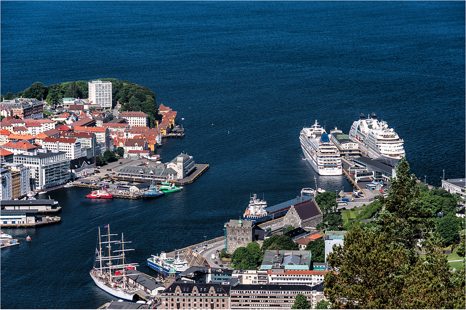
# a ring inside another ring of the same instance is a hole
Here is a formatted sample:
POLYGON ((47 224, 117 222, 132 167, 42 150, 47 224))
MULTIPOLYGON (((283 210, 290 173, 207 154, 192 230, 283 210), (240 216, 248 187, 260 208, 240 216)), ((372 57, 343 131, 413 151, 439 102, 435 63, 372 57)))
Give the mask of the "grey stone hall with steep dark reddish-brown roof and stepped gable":
POLYGON ((314 199, 292 205, 283 217, 283 226, 315 227, 322 222, 322 211, 314 199))

